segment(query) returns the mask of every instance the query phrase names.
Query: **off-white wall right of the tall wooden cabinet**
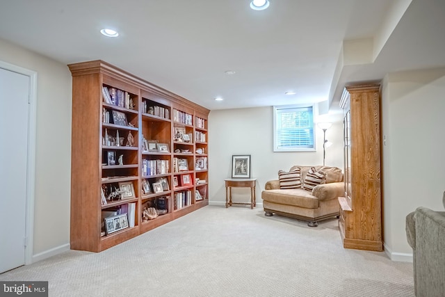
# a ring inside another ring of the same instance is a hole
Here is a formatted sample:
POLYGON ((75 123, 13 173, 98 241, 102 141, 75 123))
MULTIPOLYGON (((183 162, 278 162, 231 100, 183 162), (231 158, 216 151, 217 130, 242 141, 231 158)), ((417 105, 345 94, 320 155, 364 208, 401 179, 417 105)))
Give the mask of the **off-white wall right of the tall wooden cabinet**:
POLYGON ((412 254, 405 216, 416 207, 444 211, 445 68, 388 74, 382 88, 385 249, 412 254))

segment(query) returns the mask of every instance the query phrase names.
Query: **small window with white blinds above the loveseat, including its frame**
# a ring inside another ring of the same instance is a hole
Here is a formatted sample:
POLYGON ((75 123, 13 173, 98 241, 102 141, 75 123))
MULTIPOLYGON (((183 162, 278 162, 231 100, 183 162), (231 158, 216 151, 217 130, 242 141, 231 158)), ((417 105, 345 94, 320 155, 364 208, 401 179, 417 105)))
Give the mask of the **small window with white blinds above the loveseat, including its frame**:
POLYGON ((314 106, 274 106, 273 151, 315 150, 314 106))

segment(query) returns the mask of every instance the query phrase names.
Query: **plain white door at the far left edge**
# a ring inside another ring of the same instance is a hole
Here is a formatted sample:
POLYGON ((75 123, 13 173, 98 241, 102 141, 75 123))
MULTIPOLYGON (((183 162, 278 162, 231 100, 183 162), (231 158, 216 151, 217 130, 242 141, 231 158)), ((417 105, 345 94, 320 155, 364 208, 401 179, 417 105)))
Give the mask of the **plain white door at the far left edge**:
POLYGON ((25 264, 30 77, 0 68, 0 273, 25 264))

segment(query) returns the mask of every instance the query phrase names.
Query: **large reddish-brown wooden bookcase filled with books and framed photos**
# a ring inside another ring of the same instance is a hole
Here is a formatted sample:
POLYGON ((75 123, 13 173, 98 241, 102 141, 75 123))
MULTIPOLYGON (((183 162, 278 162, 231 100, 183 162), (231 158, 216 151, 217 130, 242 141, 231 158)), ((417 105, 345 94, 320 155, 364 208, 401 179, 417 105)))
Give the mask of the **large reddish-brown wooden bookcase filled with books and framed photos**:
POLYGON ((104 61, 68 67, 73 250, 100 252, 209 204, 208 109, 104 61), (143 220, 149 207, 161 214, 143 220))

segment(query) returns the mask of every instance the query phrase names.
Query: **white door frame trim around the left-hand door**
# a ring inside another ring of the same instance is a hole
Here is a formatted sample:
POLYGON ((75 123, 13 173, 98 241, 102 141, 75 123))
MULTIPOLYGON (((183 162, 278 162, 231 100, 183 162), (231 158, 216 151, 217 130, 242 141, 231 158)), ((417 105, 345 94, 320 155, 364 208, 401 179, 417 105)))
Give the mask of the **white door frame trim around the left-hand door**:
POLYGON ((37 72, 0 61, 0 68, 29 77, 28 156, 26 166, 25 265, 33 263, 35 200, 35 135, 37 125, 37 72))

